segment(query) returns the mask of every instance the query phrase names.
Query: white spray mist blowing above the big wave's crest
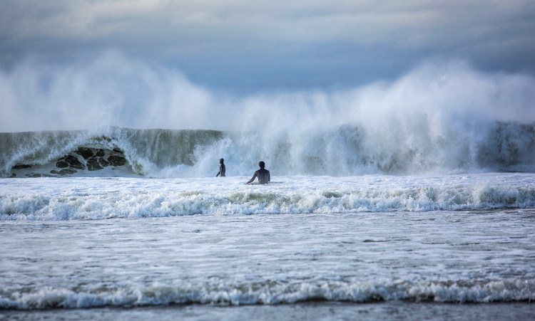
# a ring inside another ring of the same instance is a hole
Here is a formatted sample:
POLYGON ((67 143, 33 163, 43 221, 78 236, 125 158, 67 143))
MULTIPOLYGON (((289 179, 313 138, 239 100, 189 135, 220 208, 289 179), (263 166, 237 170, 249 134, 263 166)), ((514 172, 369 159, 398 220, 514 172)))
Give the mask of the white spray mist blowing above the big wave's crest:
POLYGON ((0 71, 1 132, 94 127, 305 131, 358 123, 391 135, 535 121, 535 80, 468 63, 429 61, 393 81, 351 90, 212 92, 185 75, 109 51, 63 65, 27 59, 0 71), (394 126, 395 128, 392 128, 394 126))

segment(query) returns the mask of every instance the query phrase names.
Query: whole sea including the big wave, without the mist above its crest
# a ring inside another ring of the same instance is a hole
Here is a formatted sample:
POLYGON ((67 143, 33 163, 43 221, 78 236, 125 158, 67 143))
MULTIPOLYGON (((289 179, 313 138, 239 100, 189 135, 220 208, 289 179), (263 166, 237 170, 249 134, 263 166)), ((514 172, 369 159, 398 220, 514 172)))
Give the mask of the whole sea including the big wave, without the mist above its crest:
POLYGON ((535 125, 424 132, 0 133, 0 317, 533 320, 535 125))

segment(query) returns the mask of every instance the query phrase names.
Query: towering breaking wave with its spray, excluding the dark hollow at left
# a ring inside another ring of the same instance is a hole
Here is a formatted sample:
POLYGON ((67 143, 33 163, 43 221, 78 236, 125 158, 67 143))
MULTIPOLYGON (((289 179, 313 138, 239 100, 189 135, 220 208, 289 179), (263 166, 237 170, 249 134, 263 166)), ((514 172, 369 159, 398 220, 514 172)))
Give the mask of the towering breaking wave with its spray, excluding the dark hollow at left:
POLYGON ((4 176, 92 144, 123 149, 149 177, 212 176, 222 157, 230 175, 250 175, 260 160, 277 174, 335 176, 535 164, 534 78, 458 61, 360 88, 237 97, 112 52, 66 65, 26 60, 0 71, 0 91, 4 176))

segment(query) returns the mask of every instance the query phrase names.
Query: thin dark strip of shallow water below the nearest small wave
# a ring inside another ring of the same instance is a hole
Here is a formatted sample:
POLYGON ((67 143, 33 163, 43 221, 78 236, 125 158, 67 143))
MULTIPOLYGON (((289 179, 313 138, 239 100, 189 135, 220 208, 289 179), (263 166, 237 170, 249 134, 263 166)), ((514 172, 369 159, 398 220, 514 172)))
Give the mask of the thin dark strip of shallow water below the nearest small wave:
POLYGON ((0 310, 9 320, 531 320, 535 303, 304 302, 290 305, 170 305, 74 310, 0 310))

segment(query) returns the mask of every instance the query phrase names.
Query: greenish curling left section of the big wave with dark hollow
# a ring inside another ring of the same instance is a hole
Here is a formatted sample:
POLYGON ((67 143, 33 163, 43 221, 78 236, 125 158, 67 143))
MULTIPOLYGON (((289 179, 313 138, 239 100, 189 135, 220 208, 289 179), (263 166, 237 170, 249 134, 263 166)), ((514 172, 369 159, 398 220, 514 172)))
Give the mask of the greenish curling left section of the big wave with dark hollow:
POLYGON ((0 176, 151 177, 169 167, 192 167, 195 152, 222 137, 214 130, 121 127, 0 133, 0 176))

